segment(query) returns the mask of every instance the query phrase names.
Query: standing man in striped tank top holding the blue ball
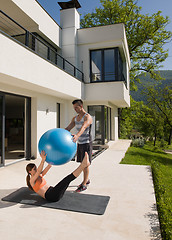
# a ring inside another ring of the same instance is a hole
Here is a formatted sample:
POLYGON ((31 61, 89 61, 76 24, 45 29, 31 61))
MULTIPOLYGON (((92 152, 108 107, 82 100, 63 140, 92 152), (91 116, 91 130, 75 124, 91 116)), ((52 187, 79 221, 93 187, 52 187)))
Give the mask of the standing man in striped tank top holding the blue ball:
MULTIPOLYGON (((92 117, 83 108, 83 101, 76 99, 72 102, 73 108, 77 115, 72 118, 71 123, 65 128, 70 131, 72 128, 76 128, 77 134, 73 136, 73 141, 77 141, 77 162, 82 162, 85 152, 88 153, 89 161, 91 163, 92 157, 92 139, 91 139, 91 126, 92 117)), ((78 186, 76 192, 82 192, 87 189, 87 185, 90 183, 89 167, 83 170, 84 179, 83 182, 78 186)))

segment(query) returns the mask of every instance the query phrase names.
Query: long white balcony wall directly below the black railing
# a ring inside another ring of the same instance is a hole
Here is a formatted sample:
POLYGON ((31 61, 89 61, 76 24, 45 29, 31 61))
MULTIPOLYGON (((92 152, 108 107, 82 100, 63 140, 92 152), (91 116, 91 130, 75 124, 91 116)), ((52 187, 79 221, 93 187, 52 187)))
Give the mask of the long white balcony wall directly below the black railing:
POLYGON ((1 81, 64 99, 81 98, 79 80, 0 33, 1 81), (11 80, 10 80, 11 79, 11 80))

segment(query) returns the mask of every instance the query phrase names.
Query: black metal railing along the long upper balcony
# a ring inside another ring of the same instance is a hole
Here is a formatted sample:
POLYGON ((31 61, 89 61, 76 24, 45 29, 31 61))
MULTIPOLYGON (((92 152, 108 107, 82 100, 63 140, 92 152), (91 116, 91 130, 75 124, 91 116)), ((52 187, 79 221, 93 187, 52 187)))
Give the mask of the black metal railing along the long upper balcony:
POLYGON ((0 10, 0 30, 26 47, 32 49, 36 54, 45 58, 65 72, 84 82, 84 74, 70 62, 57 53, 57 50, 46 41, 40 39, 35 33, 29 32, 19 23, 0 10))

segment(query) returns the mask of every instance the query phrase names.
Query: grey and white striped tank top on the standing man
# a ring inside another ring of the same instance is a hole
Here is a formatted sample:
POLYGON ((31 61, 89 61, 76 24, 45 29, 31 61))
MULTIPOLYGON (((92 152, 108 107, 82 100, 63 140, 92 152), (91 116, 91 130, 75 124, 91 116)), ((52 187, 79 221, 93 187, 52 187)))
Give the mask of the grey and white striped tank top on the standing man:
MULTIPOLYGON (((84 123, 84 118, 88 113, 85 113, 84 116, 82 117, 82 119, 80 121, 77 121, 77 116, 75 117, 75 128, 77 130, 77 132, 80 131, 83 123, 84 123)), ((85 131, 83 132, 83 134, 78 138, 78 143, 79 144, 85 144, 85 143, 89 143, 92 141, 91 139, 91 126, 92 124, 90 124, 85 131)))

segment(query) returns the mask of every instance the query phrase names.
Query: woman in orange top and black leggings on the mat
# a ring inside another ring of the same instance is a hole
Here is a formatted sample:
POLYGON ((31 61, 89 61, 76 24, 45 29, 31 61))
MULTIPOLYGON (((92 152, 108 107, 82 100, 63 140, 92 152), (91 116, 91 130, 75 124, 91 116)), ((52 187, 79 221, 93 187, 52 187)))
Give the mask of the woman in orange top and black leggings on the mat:
POLYGON ((76 168, 71 174, 66 176, 63 180, 61 180, 56 186, 52 187, 47 185, 45 179, 43 178, 43 176, 51 168, 51 165, 48 164, 47 167, 43 170, 47 155, 44 151, 42 151, 40 156, 42 160, 38 168, 34 163, 29 163, 26 166, 26 171, 28 173, 26 182, 29 189, 35 191, 41 197, 51 202, 59 201, 63 197, 70 182, 77 178, 84 170, 84 168, 90 165, 88 153, 85 153, 84 160, 79 165, 79 167, 76 168))

